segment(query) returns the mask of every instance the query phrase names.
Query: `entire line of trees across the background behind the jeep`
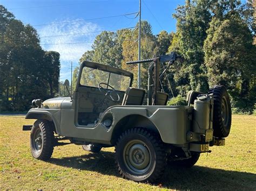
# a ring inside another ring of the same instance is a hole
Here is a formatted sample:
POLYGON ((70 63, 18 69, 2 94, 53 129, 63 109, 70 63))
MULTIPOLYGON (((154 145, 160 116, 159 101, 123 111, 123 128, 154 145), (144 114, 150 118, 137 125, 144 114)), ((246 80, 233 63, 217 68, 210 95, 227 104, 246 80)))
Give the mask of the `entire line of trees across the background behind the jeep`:
MULTIPOLYGON (((254 2, 255 3, 255 2, 254 2)), ((188 90, 207 92, 223 84, 234 112, 251 114, 255 107, 256 48, 253 1, 187 0, 178 6, 176 32, 154 35, 142 21, 142 59, 168 54, 183 56, 162 79, 161 89, 172 102, 184 103, 188 90)), ((137 86, 138 24, 134 29, 104 31, 79 62, 90 60, 133 72, 137 86)), ((44 51, 37 31, 0 5, 0 111, 28 110, 31 100, 58 95, 59 53, 44 51)), ((142 65, 142 88, 147 86, 147 65, 142 65)), ((163 70, 164 66, 161 66, 163 70)), ((73 72, 76 87, 79 67, 73 72)), ((63 83, 60 88, 63 92, 63 83)))

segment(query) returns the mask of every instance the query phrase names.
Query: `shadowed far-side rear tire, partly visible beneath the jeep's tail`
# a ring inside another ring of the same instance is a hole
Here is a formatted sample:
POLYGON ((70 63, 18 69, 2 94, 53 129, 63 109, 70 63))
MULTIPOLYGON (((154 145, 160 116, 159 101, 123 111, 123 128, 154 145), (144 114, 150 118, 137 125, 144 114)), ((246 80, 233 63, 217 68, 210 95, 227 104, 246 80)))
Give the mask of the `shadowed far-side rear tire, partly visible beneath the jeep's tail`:
POLYGON ((200 157, 200 153, 191 151, 191 158, 169 161, 169 164, 172 166, 191 168, 197 163, 199 157, 200 157))

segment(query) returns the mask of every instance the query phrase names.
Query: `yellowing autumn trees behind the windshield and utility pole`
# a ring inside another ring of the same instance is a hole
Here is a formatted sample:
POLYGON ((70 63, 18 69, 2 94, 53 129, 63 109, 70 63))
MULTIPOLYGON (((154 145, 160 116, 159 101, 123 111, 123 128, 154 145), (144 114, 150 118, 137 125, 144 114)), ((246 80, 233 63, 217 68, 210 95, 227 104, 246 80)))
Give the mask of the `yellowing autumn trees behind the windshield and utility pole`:
MULTIPOLYGON (((138 24, 137 24, 138 26, 138 24)), ((133 72, 134 81, 133 86, 137 86, 137 65, 126 65, 127 61, 138 59, 138 29, 122 29, 117 32, 107 32, 104 31, 100 33, 93 45, 91 51, 86 51, 82 58, 80 58, 80 63, 83 60, 91 60, 95 62, 104 63, 113 67, 123 68, 133 72)), ((142 21, 142 59, 152 58, 156 55, 156 37, 152 34, 151 25, 142 21)), ((159 38, 159 43, 164 44, 164 37, 159 38)), ((161 50, 163 51, 163 50, 161 50)), ((78 68, 74 70, 73 80, 77 80, 78 68)), ((147 86, 147 66, 142 66, 142 87, 147 86)))

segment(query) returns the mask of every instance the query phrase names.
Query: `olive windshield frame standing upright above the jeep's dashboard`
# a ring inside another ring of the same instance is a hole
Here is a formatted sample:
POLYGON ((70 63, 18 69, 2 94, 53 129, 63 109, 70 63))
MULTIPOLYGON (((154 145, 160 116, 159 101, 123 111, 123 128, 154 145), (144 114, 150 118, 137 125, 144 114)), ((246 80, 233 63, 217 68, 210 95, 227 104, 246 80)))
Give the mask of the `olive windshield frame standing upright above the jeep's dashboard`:
MULTIPOLYGON (((91 70, 99 70, 99 71, 103 71, 103 72, 106 72, 108 73, 108 79, 107 81, 102 81, 102 82, 105 82, 108 84, 108 86, 111 84, 109 84, 110 82, 110 77, 111 77, 111 74, 116 74, 116 75, 120 75, 120 76, 126 76, 126 77, 129 77, 130 78, 130 83, 129 83, 129 87, 132 86, 132 82, 133 82, 133 73, 131 72, 127 72, 126 70, 123 70, 123 69, 119 69, 119 68, 114 68, 114 67, 111 67, 111 66, 107 66, 107 65, 104 65, 102 63, 97 63, 97 62, 91 62, 91 61, 83 61, 81 66, 80 66, 80 70, 79 70, 79 75, 78 75, 78 79, 77 79, 77 87, 76 89, 78 89, 78 87, 94 87, 94 88, 98 88, 96 86, 89 86, 87 84, 81 84, 81 78, 82 78, 82 74, 83 74, 83 70, 84 68, 91 68, 91 70)), ((91 70, 87 71, 87 72, 90 72, 91 70)), ((127 86, 128 87, 128 86, 127 86)), ((127 88, 126 87, 126 88, 127 88)), ((125 91, 125 90, 119 90, 119 89, 116 89, 118 91, 125 91)))

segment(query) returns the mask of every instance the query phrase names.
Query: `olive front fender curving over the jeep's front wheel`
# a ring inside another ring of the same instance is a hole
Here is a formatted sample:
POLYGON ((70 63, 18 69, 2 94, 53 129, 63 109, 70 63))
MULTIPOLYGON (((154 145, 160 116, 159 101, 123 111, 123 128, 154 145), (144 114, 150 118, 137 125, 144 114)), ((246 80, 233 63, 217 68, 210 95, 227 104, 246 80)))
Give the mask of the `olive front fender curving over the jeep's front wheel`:
POLYGON ((55 125, 56 133, 60 135, 60 109, 30 109, 25 119, 46 119, 55 125))

